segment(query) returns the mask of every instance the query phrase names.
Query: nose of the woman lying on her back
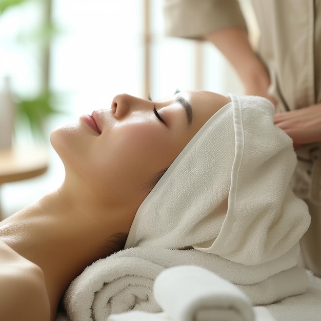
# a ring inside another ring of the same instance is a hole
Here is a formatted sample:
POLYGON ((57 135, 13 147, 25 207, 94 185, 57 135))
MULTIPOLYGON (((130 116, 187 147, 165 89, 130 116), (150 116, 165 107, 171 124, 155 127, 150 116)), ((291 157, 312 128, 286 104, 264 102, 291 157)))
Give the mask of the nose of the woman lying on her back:
POLYGON ((148 110, 153 108, 153 103, 143 98, 128 94, 116 95, 111 103, 111 109, 116 118, 127 116, 134 110, 148 110))

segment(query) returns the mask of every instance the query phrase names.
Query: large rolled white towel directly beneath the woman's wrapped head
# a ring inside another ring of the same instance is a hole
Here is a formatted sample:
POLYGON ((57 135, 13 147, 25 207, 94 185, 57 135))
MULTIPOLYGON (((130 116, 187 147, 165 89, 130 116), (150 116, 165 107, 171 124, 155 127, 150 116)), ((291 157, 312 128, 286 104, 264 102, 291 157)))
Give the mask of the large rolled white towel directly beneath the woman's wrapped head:
POLYGON ((232 283, 250 297, 252 304, 268 304, 306 291, 305 270, 295 267, 294 260, 292 264, 291 259, 286 262, 285 271, 269 276, 270 263, 246 267, 195 249, 130 248, 87 267, 69 286, 63 302, 72 321, 105 321, 109 314, 129 310, 159 312, 152 293, 156 276, 169 267, 197 265, 233 279, 232 283), (243 283, 238 284, 238 280, 243 283))

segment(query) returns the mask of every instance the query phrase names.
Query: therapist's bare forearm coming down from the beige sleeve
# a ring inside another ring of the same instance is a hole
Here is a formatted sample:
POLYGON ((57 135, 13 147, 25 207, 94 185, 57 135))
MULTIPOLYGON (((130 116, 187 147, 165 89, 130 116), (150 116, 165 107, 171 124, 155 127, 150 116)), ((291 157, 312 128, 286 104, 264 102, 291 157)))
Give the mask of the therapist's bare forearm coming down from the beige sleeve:
POLYGON ((212 31, 204 38, 223 53, 244 84, 246 94, 267 96, 269 74, 253 51, 247 31, 243 28, 227 28, 212 31))

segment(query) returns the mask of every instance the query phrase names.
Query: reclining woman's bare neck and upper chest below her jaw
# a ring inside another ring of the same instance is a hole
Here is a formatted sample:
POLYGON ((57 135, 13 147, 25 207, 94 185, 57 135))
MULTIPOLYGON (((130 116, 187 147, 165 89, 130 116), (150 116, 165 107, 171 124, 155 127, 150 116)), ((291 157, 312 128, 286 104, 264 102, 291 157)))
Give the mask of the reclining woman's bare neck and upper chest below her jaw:
POLYGON ((131 221, 123 230, 116 222, 124 213, 97 204, 62 186, 0 223, 0 238, 43 270, 52 309, 71 281, 102 257, 106 240, 129 230, 131 221))

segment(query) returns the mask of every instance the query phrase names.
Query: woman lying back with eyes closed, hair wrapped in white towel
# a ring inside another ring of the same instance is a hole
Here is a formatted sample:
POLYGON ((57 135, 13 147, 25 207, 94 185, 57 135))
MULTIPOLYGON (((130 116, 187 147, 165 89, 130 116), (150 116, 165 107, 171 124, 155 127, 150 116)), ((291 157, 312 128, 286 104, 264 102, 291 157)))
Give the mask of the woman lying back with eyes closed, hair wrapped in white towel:
POLYGON ((294 268, 310 221, 273 112, 252 96, 122 94, 55 130, 64 182, 0 223, 0 319, 53 321, 72 280, 125 242, 266 265, 265 278, 294 268))

